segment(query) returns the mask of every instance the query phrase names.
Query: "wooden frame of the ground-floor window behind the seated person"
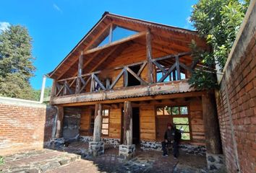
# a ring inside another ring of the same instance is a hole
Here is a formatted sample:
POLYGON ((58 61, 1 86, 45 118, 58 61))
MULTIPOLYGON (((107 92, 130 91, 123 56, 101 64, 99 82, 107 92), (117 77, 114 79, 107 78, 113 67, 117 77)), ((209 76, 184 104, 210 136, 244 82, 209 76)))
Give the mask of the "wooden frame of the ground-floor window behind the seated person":
MULTIPOLYGON (((186 104, 181 104, 181 105, 172 105, 172 104, 161 104, 161 105, 155 105, 155 138, 158 140, 158 117, 171 117, 171 123, 174 123, 174 117, 187 117, 188 118, 188 125, 189 125, 189 132, 184 132, 184 133, 189 133, 189 140, 184 140, 182 139, 181 141, 184 143, 189 143, 193 141, 193 136, 192 136, 192 124, 191 124, 191 115, 190 115, 190 107, 189 105, 186 104), (157 110, 158 107, 163 108, 163 115, 158 115, 157 110), (164 113, 164 107, 179 107, 179 115, 165 115, 164 113), (180 107, 187 107, 187 114, 186 115, 182 115, 181 114, 181 109, 180 107)), ((185 125, 185 124, 177 124, 177 125, 185 125)))

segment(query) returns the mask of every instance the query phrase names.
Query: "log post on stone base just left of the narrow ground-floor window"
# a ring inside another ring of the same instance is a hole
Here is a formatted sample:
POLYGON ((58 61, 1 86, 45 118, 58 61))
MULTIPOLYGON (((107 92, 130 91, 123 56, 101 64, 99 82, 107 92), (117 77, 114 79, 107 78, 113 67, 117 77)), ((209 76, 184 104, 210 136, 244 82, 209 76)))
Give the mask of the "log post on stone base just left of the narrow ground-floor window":
POLYGON ((102 105, 95 105, 93 142, 89 142, 89 154, 100 156, 104 154, 104 142, 101 141, 102 105))

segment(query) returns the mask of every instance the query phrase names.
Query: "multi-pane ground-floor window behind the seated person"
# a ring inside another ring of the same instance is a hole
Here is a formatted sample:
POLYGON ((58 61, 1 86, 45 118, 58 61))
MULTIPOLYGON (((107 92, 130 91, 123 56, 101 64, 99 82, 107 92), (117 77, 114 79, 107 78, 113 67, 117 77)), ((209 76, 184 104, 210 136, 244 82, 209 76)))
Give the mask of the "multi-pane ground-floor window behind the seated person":
POLYGON ((187 106, 163 106, 156 107, 156 117, 158 122, 158 138, 163 138, 166 123, 176 124, 176 128, 182 131, 182 140, 190 140, 189 110, 187 106), (164 117, 164 118, 163 118, 164 117))

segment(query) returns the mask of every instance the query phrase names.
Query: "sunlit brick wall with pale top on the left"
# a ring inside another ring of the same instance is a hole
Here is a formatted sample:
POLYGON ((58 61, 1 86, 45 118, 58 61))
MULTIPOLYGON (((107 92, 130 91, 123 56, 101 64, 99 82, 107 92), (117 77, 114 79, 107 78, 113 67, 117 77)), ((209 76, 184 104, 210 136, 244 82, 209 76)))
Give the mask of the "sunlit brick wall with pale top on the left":
POLYGON ((0 97, 0 155, 43 148, 56 110, 36 102, 0 97))

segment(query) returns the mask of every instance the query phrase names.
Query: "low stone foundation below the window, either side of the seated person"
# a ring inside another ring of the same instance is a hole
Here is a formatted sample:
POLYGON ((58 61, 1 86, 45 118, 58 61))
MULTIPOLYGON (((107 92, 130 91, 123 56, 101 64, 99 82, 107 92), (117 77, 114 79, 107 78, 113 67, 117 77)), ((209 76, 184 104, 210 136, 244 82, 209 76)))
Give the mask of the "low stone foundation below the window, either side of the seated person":
MULTIPOLYGON (((142 148, 143 151, 148 151, 148 150, 162 151, 161 142, 158 142, 158 141, 140 141, 140 148, 142 148)), ((196 146, 192 144, 180 144, 179 148, 181 148, 187 154, 205 156, 205 151, 206 151, 205 146, 196 146)))

